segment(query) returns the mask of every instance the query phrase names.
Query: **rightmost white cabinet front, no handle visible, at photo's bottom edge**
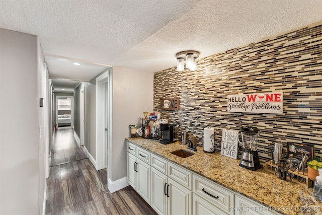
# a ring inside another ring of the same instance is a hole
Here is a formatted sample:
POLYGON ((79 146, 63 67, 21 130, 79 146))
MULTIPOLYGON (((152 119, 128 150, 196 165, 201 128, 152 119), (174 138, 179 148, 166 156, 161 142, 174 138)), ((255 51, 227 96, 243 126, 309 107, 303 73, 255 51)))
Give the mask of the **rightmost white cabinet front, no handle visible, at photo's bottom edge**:
POLYGON ((239 215, 270 215, 280 214, 276 211, 268 211, 269 207, 266 207, 258 202, 255 202, 245 196, 235 195, 235 214, 239 215))

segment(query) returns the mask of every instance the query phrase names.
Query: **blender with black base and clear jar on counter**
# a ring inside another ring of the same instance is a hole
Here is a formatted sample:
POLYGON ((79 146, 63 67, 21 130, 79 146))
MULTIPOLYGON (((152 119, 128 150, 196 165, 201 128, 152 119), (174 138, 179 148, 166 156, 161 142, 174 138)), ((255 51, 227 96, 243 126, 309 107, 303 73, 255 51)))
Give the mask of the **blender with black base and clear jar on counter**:
POLYGON ((239 166, 256 171, 263 167, 257 152, 257 138, 259 136, 258 128, 252 126, 243 126, 237 134, 237 140, 243 146, 243 153, 239 166), (241 141, 239 140, 241 138, 241 141))

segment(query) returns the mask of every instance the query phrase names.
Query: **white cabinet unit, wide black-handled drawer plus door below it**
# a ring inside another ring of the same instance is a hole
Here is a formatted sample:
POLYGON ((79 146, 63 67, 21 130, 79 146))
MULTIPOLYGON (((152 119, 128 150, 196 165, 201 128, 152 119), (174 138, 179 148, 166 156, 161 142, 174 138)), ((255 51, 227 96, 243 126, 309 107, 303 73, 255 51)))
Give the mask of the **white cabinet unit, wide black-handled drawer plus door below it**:
POLYGON ((193 214, 203 214, 206 207, 216 208, 219 214, 234 214, 234 192, 196 174, 192 181, 193 214))

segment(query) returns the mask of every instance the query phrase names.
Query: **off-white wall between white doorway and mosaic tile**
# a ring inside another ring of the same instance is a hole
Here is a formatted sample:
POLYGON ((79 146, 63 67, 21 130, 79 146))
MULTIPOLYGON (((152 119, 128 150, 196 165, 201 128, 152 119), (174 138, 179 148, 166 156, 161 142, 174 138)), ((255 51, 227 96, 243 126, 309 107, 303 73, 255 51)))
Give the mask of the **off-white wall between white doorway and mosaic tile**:
POLYGON ((113 67, 112 74, 112 142, 109 143, 108 177, 113 182, 126 177, 125 138, 130 136, 129 124, 143 117, 143 111, 153 111, 153 74, 117 66, 113 67))

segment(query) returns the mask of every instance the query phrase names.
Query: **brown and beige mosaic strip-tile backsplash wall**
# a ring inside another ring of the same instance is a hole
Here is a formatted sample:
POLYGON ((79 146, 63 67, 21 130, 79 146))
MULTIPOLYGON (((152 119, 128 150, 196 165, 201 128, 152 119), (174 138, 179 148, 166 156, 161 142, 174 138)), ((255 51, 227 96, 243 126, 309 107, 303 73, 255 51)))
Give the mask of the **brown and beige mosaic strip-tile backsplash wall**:
MULTIPOLYGON (((197 71, 172 67, 154 73, 154 112, 197 137, 215 128, 216 151, 222 129, 258 127, 262 162, 275 141, 314 145, 322 157, 322 23, 197 60, 197 71), (227 95, 283 92, 283 114, 227 111, 227 95), (180 98, 180 110, 161 110, 160 99, 180 98)), ((286 155, 286 153, 285 153, 286 155)))

